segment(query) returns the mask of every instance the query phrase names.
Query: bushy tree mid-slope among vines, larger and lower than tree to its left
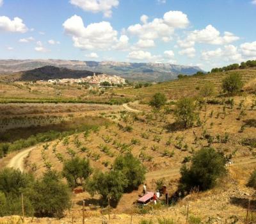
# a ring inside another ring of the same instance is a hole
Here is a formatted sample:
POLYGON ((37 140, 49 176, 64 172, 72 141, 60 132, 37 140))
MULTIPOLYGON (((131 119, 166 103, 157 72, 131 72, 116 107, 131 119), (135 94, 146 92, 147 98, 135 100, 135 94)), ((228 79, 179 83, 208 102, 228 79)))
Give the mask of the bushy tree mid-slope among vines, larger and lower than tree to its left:
POLYGON ((177 122, 188 128, 193 125, 196 118, 195 104, 191 98, 182 98, 177 101, 174 115, 177 122))

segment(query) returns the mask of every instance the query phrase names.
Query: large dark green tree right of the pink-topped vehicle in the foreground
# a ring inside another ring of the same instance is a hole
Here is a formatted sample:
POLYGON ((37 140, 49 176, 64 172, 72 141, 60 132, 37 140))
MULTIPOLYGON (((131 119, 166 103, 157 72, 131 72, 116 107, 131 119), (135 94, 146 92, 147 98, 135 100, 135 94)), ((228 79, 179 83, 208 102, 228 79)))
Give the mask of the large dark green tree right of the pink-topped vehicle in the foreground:
POLYGON ((190 168, 186 164, 180 169, 180 186, 184 191, 199 188, 201 191, 211 189, 216 181, 225 174, 226 159, 223 154, 214 148, 202 148, 196 152, 190 168))

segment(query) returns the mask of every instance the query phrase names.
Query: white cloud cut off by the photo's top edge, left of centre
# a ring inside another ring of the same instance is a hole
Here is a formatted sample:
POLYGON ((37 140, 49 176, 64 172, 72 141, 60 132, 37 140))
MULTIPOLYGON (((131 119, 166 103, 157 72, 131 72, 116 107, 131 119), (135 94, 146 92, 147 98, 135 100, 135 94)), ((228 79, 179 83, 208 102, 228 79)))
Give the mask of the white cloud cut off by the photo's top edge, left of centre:
POLYGON ((111 17, 112 8, 119 4, 118 0, 70 0, 71 4, 78 6, 84 11, 93 13, 103 12, 104 17, 111 17))

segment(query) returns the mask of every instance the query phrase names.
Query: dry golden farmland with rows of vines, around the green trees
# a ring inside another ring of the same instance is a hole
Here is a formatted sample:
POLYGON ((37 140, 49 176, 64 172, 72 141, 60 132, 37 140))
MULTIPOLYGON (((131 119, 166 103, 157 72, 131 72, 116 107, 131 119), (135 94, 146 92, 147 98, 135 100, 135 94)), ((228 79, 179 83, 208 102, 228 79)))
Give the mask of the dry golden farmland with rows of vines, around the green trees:
MULTIPOLYGON (((227 175, 210 190, 199 192, 193 189, 177 204, 168 207, 168 211, 164 203, 135 207, 134 202, 142 193, 142 186, 139 186, 138 190, 124 193, 118 205, 111 209, 102 206, 100 195, 92 196, 86 191, 78 195, 72 193, 72 208, 65 211, 64 218, 36 218, 34 221, 80 223, 84 200, 87 223, 102 223, 108 218, 108 223, 141 224, 141 220, 158 223, 157 219, 163 217, 180 224, 186 223, 187 218, 190 224, 244 223, 248 199, 251 200, 250 209, 256 210, 255 190, 246 186, 250 173, 256 167, 256 70, 237 72, 241 72, 243 81, 247 83, 243 92, 236 96, 218 92, 223 77, 227 76, 223 73, 104 93, 79 90, 80 86, 1 83, 2 102, 6 99, 26 102, 31 99, 77 100, 77 97, 81 97, 79 100, 92 97, 93 100, 99 99, 98 102, 104 99, 109 102, 115 94, 140 100, 124 102, 123 105, 2 103, 0 143, 9 144, 10 151, 7 156, 0 154, 3 157, 0 165, 2 168, 6 164, 10 166, 11 161, 15 168, 24 168, 40 178, 47 170, 61 172, 65 161, 78 156, 89 159, 94 171, 108 172, 112 170, 116 157, 131 152, 147 170, 145 182, 148 191, 156 191, 161 182, 172 196, 178 189, 182 165, 191 164, 191 159, 201 148, 213 147, 227 160, 230 159, 227 175), (203 100, 198 98, 198 93, 205 83, 213 83, 217 93, 203 100), (29 92, 32 86, 36 92, 29 92), (57 97, 56 89, 61 91, 61 97, 57 97), (157 110, 145 104, 156 92, 165 93, 168 98, 168 103, 157 110), (175 117, 177 99, 186 95, 196 97, 195 113, 198 115, 188 129, 177 125, 175 117), (25 146, 29 147, 26 151, 16 152, 25 146)), ((63 178, 63 182, 67 182, 66 179, 63 178)), ((164 196, 162 199, 164 201, 164 196)), ((253 215, 250 213, 251 220, 255 220, 253 215)), ((2 220, 10 221, 12 218, 2 220)), ((26 222, 31 222, 31 218, 26 218, 26 222)))

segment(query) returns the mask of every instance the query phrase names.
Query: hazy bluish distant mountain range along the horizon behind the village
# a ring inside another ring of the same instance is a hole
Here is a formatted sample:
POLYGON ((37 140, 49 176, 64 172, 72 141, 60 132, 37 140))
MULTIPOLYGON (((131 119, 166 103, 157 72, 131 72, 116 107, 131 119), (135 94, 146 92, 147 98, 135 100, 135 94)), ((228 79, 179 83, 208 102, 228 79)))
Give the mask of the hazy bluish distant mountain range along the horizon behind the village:
MULTIPOLYGON (((35 68, 54 66, 61 68, 61 70, 54 70, 51 67, 51 72, 48 76, 44 76, 45 79, 56 78, 73 78, 81 77, 84 74, 90 76, 90 72, 100 72, 106 74, 113 74, 124 77, 125 79, 134 81, 169 81, 177 79, 179 74, 192 75, 198 71, 202 71, 201 68, 196 66, 184 66, 184 65, 172 65, 168 63, 129 63, 129 62, 116 62, 116 61, 76 61, 76 60, 0 60, 0 74, 13 74, 20 71, 26 76, 22 76, 22 79, 35 80, 38 78, 40 72, 37 73, 35 68), (68 68, 68 69, 64 69, 68 68), (56 73, 54 73, 56 71, 56 73), (61 71, 61 72, 60 72, 61 71), (61 74, 61 76, 60 76, 61 74), (33 77, 35 75, 35 77, 33 77)), ((85 77, 86 77, 85 76, 85 77)))

